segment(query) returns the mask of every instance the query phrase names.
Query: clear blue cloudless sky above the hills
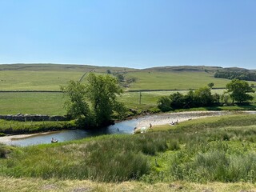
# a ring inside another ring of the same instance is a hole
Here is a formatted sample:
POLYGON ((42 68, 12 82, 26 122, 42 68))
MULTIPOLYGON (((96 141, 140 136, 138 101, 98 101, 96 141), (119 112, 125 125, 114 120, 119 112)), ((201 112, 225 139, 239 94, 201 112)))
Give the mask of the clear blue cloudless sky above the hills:
POLYGON ((0 63, 256 69, 256 0, 0 0, 0 63))

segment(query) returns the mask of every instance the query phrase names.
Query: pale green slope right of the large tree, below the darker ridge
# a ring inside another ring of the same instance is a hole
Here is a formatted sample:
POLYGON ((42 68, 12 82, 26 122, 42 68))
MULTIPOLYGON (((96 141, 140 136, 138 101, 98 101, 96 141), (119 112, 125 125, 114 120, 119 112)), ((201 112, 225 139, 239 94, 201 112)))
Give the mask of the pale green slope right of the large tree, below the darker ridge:
POLYGON ((214 87, 225 87, 230 80, 214 78, 205 71, 140 71, 126 74, 128 78, 136 78, 130 90, 188 90, 198 89, 214 82, 214 87))

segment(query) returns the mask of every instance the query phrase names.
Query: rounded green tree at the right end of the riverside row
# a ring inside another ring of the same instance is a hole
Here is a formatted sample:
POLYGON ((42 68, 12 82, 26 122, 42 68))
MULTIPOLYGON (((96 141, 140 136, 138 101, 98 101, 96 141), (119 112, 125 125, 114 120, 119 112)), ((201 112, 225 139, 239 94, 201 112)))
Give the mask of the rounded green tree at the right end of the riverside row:
POLYGON ((254 97, 248 93, 254 93, 252 87, 244 80, 233 79, 226 84, 227 92, 230 93, 230 98, 239 103, 252 100, 254 97))

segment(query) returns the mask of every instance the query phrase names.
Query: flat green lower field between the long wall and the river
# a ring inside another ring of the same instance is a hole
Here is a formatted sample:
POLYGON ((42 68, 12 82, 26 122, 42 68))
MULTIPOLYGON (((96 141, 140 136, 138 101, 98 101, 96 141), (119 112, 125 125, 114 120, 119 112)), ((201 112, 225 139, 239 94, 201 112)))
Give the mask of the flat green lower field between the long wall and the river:
MULTIPOLYGON (((224 90, 212 90, 213 93, 222 94, 224 90)), ((128 108, 141 110, 154 110, 157 107, 158 98, 163 95, 170 95, 176 91, 146 91, 141 92, 141 104, 139 104, 139 92, 125 92, 119 98, 128 108)), ((186 94, 186 91, 181 91, 186 94)), ((256 93, 254 102, 256 102, 256 93)), ((38 92, 16 92, 0 93, 0 114, 48 114, 64 115, 66 110, 63 105, 65 98, 62 93, 38 93, 38 92)), ((232 110, 229 107, 220 107, 223 110, 232 110)), ((243 110, 236 108, 236 110, 243 110)))

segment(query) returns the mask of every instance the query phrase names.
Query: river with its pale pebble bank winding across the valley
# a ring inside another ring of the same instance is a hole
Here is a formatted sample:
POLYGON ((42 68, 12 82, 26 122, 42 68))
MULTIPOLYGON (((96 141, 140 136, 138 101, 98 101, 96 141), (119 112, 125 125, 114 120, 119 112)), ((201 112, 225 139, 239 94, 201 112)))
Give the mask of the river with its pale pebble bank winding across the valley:
POLYGON ((107 126, 97 131, 89 130, 61 130, 46 132, 42 134, 14 135, 0 137, 0 142, 6 145, 14 146, 31 146, 43 143, 50 143, 51 138, 55 138, 58 142, 66 142, 76 139, 88 138, 102 134, 133 134, 134 127, 149 127, 150 124, 164 125, 171 122, 182 122, 195 118, 206 118, 212 116, 222 116, 228 114, 256 114, 256 111, 189 111, 171 114, 155 114, 147 115, 142 118, 117 122, 112 126, 107 126))

